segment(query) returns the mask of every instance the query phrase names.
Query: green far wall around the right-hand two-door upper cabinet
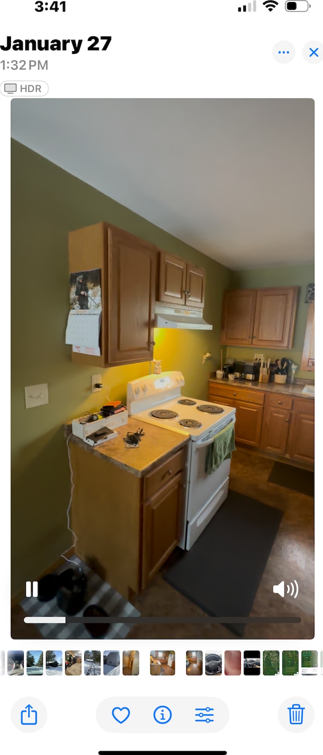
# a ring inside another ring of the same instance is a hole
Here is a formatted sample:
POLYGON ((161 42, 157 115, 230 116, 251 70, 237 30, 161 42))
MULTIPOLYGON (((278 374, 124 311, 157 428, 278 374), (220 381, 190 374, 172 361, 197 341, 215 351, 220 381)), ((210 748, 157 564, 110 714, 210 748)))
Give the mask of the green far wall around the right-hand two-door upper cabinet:
MULTIPOLYGON (((272 362, 287 356, 294 364, 300 367, 303 353, 303 343, 306 329, 306 319, 309 305, 305 304, 306 286, 314 281, 314 264, 291 265, 286 267, 267 267, 262 270, 238 270, 232 273, 232 288, 266 288, 278 285, 298 285, 300 295, 297 305, 297 316, 294 330, 293 348, 264 350, 263 354, 272 362)), ((226 356, 234 356, 236 359, 254 359, 254 353, 261 351, 255 347, 227 347, 226 356)), ((314 372, 305 372, 298 369, 296 377, 305 377, 313 380, 314 372)))

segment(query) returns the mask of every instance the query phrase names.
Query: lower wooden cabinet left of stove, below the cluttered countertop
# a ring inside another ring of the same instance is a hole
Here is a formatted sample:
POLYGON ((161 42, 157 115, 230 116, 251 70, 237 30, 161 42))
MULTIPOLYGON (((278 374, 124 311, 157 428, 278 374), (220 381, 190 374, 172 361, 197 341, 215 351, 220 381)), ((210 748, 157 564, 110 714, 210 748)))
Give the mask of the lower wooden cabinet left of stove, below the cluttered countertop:
POLYGON ((104 444, 93 452, 73 436, 69 442, 75 554, 126 599, 146 587, 180 541, 183 444, 137 476, 109 461, 104 444))

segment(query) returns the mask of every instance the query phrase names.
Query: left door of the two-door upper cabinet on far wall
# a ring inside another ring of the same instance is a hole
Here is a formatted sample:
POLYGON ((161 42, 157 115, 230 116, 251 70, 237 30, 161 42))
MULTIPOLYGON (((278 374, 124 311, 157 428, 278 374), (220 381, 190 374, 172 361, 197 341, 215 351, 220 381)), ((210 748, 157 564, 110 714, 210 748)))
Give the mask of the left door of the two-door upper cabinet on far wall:
POLYGON ((257 291, 226 291, 223 296, 220 344, 252 346, 257 291))

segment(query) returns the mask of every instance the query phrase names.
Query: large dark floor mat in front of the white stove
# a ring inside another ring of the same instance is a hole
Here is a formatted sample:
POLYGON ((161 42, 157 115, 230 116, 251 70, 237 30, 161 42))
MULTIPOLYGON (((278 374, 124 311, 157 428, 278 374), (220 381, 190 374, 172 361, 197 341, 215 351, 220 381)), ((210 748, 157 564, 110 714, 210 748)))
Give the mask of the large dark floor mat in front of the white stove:
MULTIPOLYGON (((282 516, 275 507, 229 491, 191 550, 163 578, 210 616, 248 616, 282 516)), ((245 624, 226 626, 243 635, 245 624)))

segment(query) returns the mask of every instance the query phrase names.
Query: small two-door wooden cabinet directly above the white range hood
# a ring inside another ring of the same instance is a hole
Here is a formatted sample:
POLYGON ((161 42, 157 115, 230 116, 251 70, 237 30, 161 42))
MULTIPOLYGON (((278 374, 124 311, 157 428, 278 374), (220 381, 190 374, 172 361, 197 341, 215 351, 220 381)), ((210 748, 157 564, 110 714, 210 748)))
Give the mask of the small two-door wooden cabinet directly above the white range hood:
POLYGON ((205 270, 181 257, 159 252, 158 301, 202 309, 205 297, 205 270))

